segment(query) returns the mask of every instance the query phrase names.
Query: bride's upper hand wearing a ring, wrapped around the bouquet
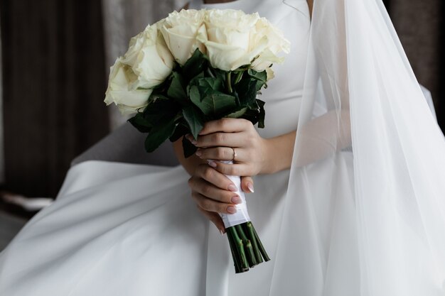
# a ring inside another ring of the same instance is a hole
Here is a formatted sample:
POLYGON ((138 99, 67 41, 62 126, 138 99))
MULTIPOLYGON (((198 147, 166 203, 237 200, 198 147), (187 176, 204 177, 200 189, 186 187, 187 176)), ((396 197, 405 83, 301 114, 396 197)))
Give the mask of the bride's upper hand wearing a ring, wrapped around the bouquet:
MULTIPOLYGON (((193 141, 190 136, 188 139, 193 141)), ((233 165, 210 163, 225 175, 254 176, 268 170, 267 139, 259 136, 252 122, 246 119, 209 121, 192 143, 198 147, 196 155, 201 159, 234 160, 233 165)))

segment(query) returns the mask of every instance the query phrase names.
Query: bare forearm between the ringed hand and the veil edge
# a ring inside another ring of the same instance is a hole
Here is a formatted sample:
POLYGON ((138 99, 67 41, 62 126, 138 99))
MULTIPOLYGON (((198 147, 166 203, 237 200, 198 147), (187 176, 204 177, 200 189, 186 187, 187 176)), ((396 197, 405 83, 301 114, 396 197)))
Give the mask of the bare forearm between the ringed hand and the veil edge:
POLYGON ((272 174, 291 167, 296 131, 264 139, 266 149, 262 174, 272 174))

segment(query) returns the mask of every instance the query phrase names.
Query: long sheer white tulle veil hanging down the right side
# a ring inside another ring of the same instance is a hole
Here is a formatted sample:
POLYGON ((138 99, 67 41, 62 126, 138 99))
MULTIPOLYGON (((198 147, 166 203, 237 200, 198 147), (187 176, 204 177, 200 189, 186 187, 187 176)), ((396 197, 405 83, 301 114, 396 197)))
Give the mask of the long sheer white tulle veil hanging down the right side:
POLYGON ((444 136, 382 1, 315 0, 307 65, 270 295, 445 295, 444 136))

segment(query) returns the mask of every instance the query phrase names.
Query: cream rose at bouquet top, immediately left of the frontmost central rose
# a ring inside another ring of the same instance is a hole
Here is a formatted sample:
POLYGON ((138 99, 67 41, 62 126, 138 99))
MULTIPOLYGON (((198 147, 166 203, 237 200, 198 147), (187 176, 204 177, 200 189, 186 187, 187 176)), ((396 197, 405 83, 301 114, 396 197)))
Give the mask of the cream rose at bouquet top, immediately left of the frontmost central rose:
POLYGON ((179 65, 184 65, 196 48, 205 53, 205 46, 197 40, 198 35, 200 40, 207 40, 204 17, 203 10, 183 9, 173 11, 161 23, 163 38, 179 65))

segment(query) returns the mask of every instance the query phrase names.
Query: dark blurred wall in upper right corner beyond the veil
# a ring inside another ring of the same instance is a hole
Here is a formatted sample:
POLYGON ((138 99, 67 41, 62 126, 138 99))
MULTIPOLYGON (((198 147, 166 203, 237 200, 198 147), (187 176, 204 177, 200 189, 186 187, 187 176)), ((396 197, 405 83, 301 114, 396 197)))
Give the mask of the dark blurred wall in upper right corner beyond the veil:
POLYGON ((434 100, 445 131, 445 2, 385 0, 414 73, 434 100))

